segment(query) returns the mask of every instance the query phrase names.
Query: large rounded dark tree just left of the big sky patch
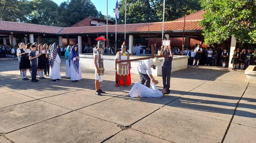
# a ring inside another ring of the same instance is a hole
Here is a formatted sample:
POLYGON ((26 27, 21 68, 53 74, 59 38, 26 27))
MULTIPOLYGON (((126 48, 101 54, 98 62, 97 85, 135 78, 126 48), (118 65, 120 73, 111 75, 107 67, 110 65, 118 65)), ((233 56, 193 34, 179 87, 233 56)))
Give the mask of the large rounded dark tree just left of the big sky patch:
POLYGON ((98 11, 90 0, 71 0, 61 3, 57 9, 60 26, 68 27, 87 17, 98 17, 98 11))

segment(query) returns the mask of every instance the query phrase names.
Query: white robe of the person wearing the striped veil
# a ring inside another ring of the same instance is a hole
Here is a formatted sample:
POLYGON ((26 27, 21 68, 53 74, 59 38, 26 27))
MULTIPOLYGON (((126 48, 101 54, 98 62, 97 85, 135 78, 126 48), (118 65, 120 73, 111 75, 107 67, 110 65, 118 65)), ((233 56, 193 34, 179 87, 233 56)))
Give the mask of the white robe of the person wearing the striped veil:
POLYGON ((61 58, 59 54, 57 54, 54 60, 53 67, 50 66, 50 72, 49 72, 49 77, 52 78, 53 80, 61 78, 60 63, 61 63, 61 58))

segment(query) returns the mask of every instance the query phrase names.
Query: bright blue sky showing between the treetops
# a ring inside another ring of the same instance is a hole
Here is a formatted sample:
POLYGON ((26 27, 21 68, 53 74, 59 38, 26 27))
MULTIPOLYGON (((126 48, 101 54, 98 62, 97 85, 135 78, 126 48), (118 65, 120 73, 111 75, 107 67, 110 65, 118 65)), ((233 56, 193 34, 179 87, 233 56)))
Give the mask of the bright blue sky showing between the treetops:
MULTIPOLYGON (((60 5, 62 2, 66 0, 52 0, 60 5)), ((120 1, 120 0, 118 0, 120 1)), ((91 2, 95 5, 97 11, 101 11, 103 15, 107 15, 107 0, 91 0, 91 2)), ((113 9, 116 6, 116 0, 108 0, 108 15, 115 17, 115 13, 113 9)))

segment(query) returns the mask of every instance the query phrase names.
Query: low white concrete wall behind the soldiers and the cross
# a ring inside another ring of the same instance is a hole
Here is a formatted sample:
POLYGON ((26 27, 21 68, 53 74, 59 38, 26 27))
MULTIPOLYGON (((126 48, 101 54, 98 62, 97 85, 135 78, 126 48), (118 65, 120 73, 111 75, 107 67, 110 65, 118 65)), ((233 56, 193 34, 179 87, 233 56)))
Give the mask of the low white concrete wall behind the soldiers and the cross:
MULTIPOLYGON (((88 55, 88 54, 79 54, 80 56, 80 66, 82 68, 90 68, 94 69, 94 58, 93 55, 88 55)), ((104 68, 105 70, 110 70, 110 71, 115 71, 115 55, 103 55, 104 57, 104 68)), ((142 58, 144 56, 130 56, 130 59, 135 59, 135 58, 142 58)), ((173 57, 173 62, 172 62, 172 72, 178 71, 178 70, 183 70, 188 67, 188 58, 189 56, 178 56, 175 55, 173 57)), ((161 62, 163 62, 164 58, 159 58, 161 62)), ((131 62, 131 73, 136 73, 136 71, 140 61, 133 61, 131 62)), ((162 67, 156 67, 156 69, 152 69, 152 75, 153 76, 160 76, 162 75, 162 67)))

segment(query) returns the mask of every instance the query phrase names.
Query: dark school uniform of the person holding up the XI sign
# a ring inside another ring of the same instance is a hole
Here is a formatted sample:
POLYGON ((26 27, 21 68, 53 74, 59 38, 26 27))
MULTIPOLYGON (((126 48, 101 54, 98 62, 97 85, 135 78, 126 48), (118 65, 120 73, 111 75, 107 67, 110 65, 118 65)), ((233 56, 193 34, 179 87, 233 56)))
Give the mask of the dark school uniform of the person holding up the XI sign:
MULTIPOLYGON (((163 54, 165 54, 165 50, 163 51, 163 54)), ((169 60, 167 61, 166 57, 164 57, 163 66, 162 66, 162 79, 163 79, 164 88, 170 89, 173 57, 171 56, 171 53, 169 50, 167 51, 167 54, 169 55, 169 60)))

